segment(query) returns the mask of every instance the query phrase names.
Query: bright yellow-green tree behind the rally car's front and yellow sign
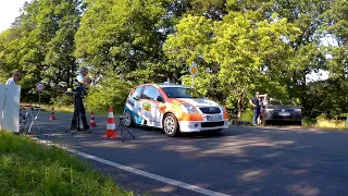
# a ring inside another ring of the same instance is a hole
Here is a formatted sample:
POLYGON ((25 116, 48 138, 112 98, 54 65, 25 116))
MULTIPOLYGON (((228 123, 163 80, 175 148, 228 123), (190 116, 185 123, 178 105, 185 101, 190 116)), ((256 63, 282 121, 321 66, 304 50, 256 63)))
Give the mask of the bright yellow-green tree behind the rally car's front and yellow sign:
MULTIPOLYGON (((223 21, 213 22, 189 15, 179 22, 177 32, 169 37, 164 48, 169 59, 176 62, 177 70, 185 72, 191 63, 198 63, 202 70, 197 77, 200 90, 207 95, 217 83, 215 88, 220 95, 215 94, 216 98, 225 103, 238 102, 239 115, 245 98, 264 85, 259 82, 266 82, 268 73, 278 70, 278 64, 273 62, 284 60, 282 53, 291 50, 284 38, 294 40, 298 33, 286 20, 274 19, 269 23, 252 21, 252 16, 229 12, 223 21), (277 60, 273 60, 275 58, 277 60)), ((187 84, 189 76, 183 79, 187 84)), ((272 83, 276 82, 269 82, 272 83)))

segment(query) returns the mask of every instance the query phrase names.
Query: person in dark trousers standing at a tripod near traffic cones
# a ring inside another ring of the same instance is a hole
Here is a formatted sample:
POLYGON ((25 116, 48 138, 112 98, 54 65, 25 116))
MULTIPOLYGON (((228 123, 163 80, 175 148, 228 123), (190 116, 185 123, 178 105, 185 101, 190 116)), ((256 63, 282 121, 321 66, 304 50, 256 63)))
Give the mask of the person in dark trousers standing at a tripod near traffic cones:
MULTIPOLYGON (((90 83, 90 79, 88 77, 85 77, 88 74, 88 69, 83 68, 80 69, 79 73, 76 76, 76 79, 74 82, 74 90, 77 93, 74 95, 75 98, 75 109, 74 109, 74 115, 72 120, 72 125, 71 130, 75 130, 77 126, 77 118, 78 118, 78 112, 79 117, 83 121, 84 124, 84 130, 87 131, 89 130, 89 125, 87 123, 87 118, 86 118, 86 111, 85 111, 85 106, 83 102, 83 96, 86 94, 86 85, 90 83)), ((77 127, 79 128, 79 127, 77 127)))

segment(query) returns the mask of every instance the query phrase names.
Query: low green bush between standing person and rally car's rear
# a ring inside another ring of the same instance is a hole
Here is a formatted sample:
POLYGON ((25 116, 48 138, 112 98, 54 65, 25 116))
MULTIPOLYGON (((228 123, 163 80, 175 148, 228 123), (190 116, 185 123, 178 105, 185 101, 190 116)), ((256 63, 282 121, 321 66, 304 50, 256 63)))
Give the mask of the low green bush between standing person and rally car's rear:
POLYGON ((133 85, 114 75, 107 78, 97 87, 89 89, 86 97, 86 108, 88 111, 107 112, 109 107, 112 106, 114 113, 122 113, 133 85))

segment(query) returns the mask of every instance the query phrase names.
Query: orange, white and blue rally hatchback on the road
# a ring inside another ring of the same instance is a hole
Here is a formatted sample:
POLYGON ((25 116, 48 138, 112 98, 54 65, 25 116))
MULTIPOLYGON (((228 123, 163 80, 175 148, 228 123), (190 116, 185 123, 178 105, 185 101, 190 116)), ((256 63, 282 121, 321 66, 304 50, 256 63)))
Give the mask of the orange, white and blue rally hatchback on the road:
POLYGON ((124 108, 124 124, 159 127, 167 136, 179 132, 220 132, 228 127, 224 107, 194 88, 171 84, 134 87, 124 108))

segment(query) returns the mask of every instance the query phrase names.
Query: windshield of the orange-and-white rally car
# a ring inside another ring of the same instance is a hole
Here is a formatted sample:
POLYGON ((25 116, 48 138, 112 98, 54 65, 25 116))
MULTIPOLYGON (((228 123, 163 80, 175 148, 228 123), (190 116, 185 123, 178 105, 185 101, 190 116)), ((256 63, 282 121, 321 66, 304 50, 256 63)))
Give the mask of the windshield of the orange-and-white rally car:
POLYGON ((187 87, 163 87, 169 98, 202 98, 197 90, 187 87))

